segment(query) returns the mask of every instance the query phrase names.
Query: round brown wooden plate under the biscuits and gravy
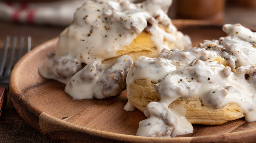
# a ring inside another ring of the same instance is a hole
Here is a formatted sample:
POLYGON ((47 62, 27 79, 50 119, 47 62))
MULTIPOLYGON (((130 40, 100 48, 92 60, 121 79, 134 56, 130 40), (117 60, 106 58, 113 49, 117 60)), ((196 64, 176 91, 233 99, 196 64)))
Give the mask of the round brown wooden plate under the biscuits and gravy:
MULTIPOLYGON (((177 24, 177 23, 176 23, 177 24)), ((204 39, 226 36, 219 25, 178 23, 193 46, 204 39)), ((146 119, 139 110, 124 111, 126 92, 110 99, 73 100, 64 84, 42 78, 38 67, 54 51, 58 38, 47 41, 25 55, 10 78, 11 100, 18 114, 38 132, 58 142, 252 142, 256 122, 244 118, 223 125, 193 125, 194 133, 172 138, 136 136, 139 121, 146 119)))

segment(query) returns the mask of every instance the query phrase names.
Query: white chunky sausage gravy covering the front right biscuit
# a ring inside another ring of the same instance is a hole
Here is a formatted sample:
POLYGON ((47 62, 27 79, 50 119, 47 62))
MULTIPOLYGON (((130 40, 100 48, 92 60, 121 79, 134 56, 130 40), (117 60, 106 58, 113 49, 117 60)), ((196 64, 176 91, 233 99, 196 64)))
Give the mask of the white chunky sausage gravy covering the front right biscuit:
MULTIPOLYGON (((169 109, 168 105, 194 95, 216 109, 236 103, 246 121, 256 120, 256 33, 241 24, 225 24, 223 31, 227 37, 204 40, 197 48, 163 50, 157 58, 142 56, 134 61, 127 75, 127 98, 130 86, 137 79, 147 78, 155 83, 161 97, 159 102, 146 106, 144 114, 148 119, 140 121, 137 135, 171 137, 192 133, 191 123, 181 120, 181 116, 185 118, 184 109, 169 109)), ((126 106, 124 109, 129 110, 126 106)))

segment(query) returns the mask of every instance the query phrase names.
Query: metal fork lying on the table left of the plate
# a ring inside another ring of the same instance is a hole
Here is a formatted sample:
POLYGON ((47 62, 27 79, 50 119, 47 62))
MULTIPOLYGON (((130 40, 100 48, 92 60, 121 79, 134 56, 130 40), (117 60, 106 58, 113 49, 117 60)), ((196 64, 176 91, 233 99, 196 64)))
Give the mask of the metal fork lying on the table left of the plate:
POLYGON ((24 37, 20 37, 18 43, 16 36, 13 37, 12 43, 10 41, 11 37, 7 36, 0 61, 0 117, 7 100, 7 90, 12 67, 21 58, 23 53, 25 54, 31 50, 31 36, 28 36, 27 43, 24 42, 24 37), (25 51, 23 51, 24 47, 26 47, 25 51), (18 52, 15 54, 16 50, 18 52))

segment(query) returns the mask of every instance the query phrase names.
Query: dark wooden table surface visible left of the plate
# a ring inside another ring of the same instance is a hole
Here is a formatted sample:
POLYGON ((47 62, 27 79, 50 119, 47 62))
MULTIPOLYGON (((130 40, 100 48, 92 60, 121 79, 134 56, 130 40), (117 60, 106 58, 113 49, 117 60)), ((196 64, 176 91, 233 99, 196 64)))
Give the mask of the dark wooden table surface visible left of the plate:
MULTIPOLYGON (((0 21, 0 47, 7 35, 31 36, 32 48, 57 37, 65 27, 14 24, 0 21)), ((2 53, 1 53, 2 54, 2 53)), ((9 92, 8 92, 9 94, 9 92)), ((27 124, 15 110, 10 95, 0 118, 0 142, 53 142, 27 124)))

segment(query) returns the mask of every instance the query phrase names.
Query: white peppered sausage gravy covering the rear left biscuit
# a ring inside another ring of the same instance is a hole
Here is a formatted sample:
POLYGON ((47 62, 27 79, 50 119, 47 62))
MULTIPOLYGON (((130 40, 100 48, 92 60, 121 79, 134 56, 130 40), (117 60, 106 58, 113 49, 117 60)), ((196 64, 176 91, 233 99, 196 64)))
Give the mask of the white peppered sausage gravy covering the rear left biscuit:
MULTIPOLYGON (((179 49, 190 48, 191 41, 171 23, 166 14, 172 0, 146 0, 134 4, 122 0, 88 0, 74 14, 74 22, 59 36, 55 55, 39 68, 39 73, 64 84, 75 74, 61 76, 55 69, 54 60, 76 59, 79 63, 89 64, 116 57, 117 51, 124 50, 138 34, 147 31, 160 53, 167 48, 165 41, 175 43, 179 49), (163 27, 163 28, 160 28, 163 27), (165 29, 165 30, 163 30, 165 29), (173 33, 178 32, 177 40, 173 33)), ((66 64, 62 69, 67 69, 66 64)))

